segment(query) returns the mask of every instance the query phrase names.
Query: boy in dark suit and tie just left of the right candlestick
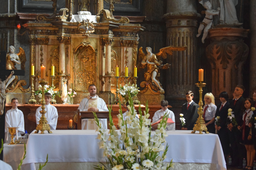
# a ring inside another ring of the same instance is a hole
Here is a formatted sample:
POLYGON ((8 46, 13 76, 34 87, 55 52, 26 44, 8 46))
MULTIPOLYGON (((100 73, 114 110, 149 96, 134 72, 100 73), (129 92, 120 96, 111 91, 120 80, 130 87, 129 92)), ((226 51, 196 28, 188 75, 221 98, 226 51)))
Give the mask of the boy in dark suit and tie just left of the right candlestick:
POLYGON ((193 101, 193 92, 186 92, 187 103, 182 105, 181 113, 186 122, 186 126, 182 127, 181 130, 193 130, 196 120, 198 119, 198 108, 199 105, 193 101))

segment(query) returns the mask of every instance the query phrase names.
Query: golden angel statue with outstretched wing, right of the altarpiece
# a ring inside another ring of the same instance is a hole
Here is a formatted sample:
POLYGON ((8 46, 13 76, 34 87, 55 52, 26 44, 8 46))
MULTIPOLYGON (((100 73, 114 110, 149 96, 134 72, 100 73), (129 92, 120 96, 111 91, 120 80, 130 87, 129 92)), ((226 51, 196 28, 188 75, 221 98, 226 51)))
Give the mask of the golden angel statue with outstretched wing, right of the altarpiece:
POLYGON ((152 48, 147 47, 147 54, 143 52, 142 47, 139 49, 139 59, 140 59, 140 68, 145 68, 147 66, 147 71, 144 73, 145 82, 141 82, 140 86, 145 87, 143 91, 140 91, 141 94, 145 93, 149 88, 153 94, 164 94, 161 83, 159 82, 160 78, 160 69, 168 69, 171 64, 163 65, 162 61, 157 60, 158 57, 167 58, 167 54, 172 55, 172 51, 184 51, 187 47, 165 47, 161 48, 157 54, 152 53, 152 48))

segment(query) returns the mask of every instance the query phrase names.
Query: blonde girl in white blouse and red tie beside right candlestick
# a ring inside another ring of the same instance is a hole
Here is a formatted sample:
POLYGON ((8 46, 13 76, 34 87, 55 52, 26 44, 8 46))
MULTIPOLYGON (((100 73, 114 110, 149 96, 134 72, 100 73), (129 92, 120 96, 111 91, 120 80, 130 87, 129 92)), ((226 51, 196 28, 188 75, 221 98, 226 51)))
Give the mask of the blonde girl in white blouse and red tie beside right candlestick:
POLYGON ((217 106, 215 105, 214 96, 212 93, 207 93, 204 95, 204 114, 203 118, 205 125, 207 126, 207 131, 209 133, 215 133, 215 113, 217 106))

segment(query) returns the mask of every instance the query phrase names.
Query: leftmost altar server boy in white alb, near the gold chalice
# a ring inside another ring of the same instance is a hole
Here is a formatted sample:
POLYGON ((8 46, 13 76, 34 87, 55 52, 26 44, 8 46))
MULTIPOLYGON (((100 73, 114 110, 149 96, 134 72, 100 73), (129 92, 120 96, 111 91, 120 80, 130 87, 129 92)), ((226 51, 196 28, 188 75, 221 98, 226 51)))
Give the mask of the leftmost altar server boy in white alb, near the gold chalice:
POLYGON ((18 136, 21 136, 21 134, 25 133, 24 129, 24 116, 22 111, 20 111, 18 107, 18 99, 13 98, 12 99, 12 109, 6 112, 6 125, 5 125, 5 132, 6 132, 6 142, 5 143, 10 143, 11 142, 11 134, 9 134, 9 129, 8 127, 18 127, 18 136))

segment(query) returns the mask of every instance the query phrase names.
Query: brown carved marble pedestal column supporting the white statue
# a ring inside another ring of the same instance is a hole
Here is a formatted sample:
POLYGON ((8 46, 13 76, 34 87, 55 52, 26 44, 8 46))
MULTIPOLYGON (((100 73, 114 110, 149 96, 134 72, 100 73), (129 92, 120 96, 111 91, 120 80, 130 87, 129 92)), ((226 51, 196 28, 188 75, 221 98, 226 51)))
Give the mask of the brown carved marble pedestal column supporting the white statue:
POLYGON ((236 85, 243 84, 242 70, 249 52, 243 38, 248 32, 242 28, 209 29, 212 42, 206 48, 206 55, 212 67, 212 94, 215 98, 222 91, 232 98, 236 85))

